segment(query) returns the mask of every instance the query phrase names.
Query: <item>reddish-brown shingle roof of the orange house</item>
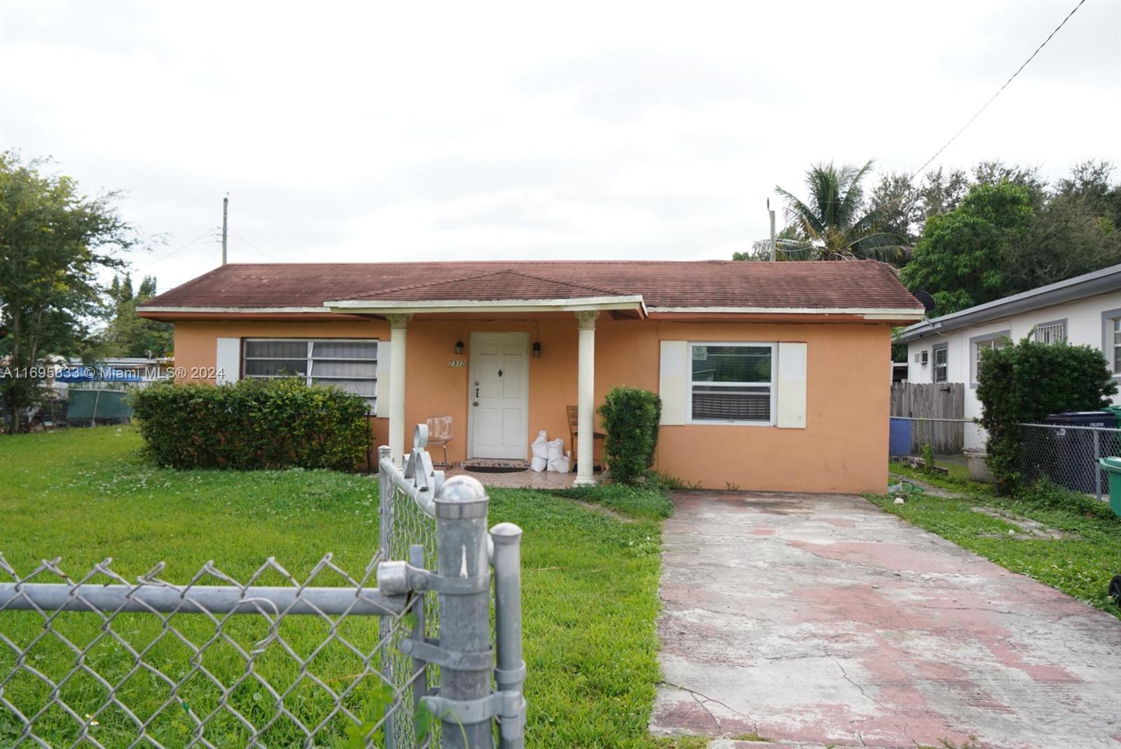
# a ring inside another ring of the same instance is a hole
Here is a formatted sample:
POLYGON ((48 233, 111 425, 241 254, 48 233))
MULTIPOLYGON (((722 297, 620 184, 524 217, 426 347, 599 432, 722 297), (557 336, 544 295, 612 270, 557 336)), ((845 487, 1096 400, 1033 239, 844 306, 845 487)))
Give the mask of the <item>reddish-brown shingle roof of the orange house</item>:
POLYGON ((321 307, 340 299, 546 299, 641 295, 648 308, 914 309, 923 305, 871 260, 522 260, 237 263, 145 307, 321 307))

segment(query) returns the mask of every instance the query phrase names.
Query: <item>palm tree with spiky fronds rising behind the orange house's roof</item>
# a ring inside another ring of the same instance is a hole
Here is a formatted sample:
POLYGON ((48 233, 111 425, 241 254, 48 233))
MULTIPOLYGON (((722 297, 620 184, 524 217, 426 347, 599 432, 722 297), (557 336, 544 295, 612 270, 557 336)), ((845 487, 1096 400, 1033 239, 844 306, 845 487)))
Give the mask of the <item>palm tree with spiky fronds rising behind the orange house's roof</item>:
POLYGON ((787 230, 793 230, 787 233, 794 235, 776 242, 777 255, 784 260, 907 259, 910 248, 904 238, 880 231, 881 212, 864 205, 860 183, 871 170, 871 160, 859 168, 839 169, 832 161, 815 165, 806 172, 809 198, 805 203, 776 186, 787 203, 787 230))

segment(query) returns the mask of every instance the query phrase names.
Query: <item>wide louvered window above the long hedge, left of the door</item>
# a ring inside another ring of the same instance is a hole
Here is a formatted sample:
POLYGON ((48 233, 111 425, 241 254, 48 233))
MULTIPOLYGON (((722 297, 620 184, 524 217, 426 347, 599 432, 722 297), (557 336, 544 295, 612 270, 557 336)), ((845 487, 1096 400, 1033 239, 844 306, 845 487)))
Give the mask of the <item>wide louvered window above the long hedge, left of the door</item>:
POLYGON ((247 339, 245 377, 299 377, 308 385, 334 385, 365 398, 378 396, 378 342, 247 339))

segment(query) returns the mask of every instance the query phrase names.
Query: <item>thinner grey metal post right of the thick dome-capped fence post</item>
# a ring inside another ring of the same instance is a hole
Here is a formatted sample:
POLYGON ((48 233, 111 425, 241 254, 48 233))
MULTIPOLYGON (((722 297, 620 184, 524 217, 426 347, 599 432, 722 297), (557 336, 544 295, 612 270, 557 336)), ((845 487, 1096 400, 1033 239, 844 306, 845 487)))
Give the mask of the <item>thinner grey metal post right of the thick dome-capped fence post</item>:
POLYGON ((500 523, 491 528, 494 544, 494 685, 518 705, 518 714, 499 723, 500 749, 526 746, 526 662, 521 657, 521 528, 500 523))

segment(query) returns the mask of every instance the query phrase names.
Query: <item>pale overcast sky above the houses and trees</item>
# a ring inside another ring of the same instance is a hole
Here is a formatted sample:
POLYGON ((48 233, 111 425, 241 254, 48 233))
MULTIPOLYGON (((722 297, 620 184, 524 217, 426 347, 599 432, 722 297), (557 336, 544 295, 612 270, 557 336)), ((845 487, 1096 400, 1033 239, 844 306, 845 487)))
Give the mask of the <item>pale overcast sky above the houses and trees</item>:
MULTIPOLYGON (((1077 0, 0 2, 0 148, 230 260, 729 258, 810 163, 914 170, 1077 0)), ((1087 0, 936 165, 1121 164, 1087 0)), ((1115 175, 1117 177, 1118 175, 1115 175)))

